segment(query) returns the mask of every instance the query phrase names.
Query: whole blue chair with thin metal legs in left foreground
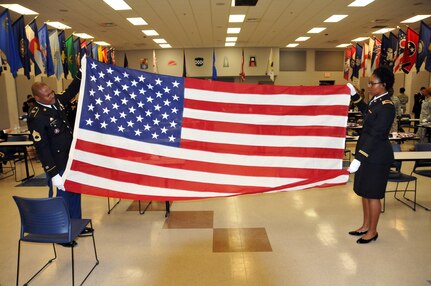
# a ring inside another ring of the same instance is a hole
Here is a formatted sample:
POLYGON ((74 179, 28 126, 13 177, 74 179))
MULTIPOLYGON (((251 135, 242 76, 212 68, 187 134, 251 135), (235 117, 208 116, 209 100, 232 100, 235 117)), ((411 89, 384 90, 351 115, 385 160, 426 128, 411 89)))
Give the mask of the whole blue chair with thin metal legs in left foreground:
MULTIPOLYGON (((57 258, 55 244, 68 244, 72 252, 72 285, 75 285, 75 260, 73 249, 76 244, 75 239, 80 236, 81 232, 90 226, 93 230, 91 219, 71 219, 66 202, 63 198, 22 198, 13 197, 19 210, 21 217, 21 233, 18 241, 18 265, 16 273, 16 285, 19 282, 20 268, 20 252, 21 242, 37 242, 37 243, 52 243, 54 249, 54 257, 51 258, 33 277, 30 278, 24 285, 27 285, 35 278, 43 269, 45 269, 52 261, 57 258)), ((93 238, 94 256, 96 263, 85 276, 82 285, 94 268, 99 264, 96 252, 96 242, 94 240, 94 231, 90 233, 93 238)))

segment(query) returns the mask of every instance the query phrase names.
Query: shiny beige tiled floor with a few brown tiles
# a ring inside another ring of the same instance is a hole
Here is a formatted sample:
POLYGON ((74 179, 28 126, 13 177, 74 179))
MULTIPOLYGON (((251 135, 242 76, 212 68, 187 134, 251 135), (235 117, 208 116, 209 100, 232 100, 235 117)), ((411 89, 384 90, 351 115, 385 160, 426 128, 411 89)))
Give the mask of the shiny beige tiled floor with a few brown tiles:
MULTIPOLYGON (((411 168, 411 163, 403 166, 406 172, 411 168)), ((41 173, 38 165, 36 173, 41 173)), ((15 285, 20 220, 12 195, 47 194, 46 187, 17 184, 13 177, 0 180, 1 286, 15 285)), ((429 206, 430 186, 431 179, 418 179, 417 199, 429 206)), ((431 285, 431 212, 414 212, 392 195, 380 218, 379 239, 369 245, 358 245, 347 234, 361 223, 361 201, 351 182, 178 201, 167 219, 164 202, 153 202, 139 215, 136 202, 122 200, 108 214, 106 198, 83 196, 83 214, 93 220, 100 260, 85 285, 431 285)), ((21 284, 52 248, 24 244, 22 250, 21 284)), ((70 250, 57 251, 58 259, 30 285, 71 285, 70 250)), ((91 240, 79 238, 77 281, 91 267, 91 251, 91 240)))

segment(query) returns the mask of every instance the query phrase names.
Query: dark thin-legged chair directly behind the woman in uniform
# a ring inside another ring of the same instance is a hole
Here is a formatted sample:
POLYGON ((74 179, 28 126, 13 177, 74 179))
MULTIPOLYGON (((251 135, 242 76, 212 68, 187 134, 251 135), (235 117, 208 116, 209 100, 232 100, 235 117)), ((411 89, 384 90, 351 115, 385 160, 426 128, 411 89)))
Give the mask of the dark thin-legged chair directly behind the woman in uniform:
MULTIPOLYGON (((392 144, 392 150, 394 152, 401 152, 401 146, 400 146, 400 144, 392 144)), ((416 203, 417 178, 415 176, 412 176, 411 174, 407 175, 407 174, 402 173, 401 172, 401 166, 402 166, 402 162, 401 161, 395 160, 392 163, 391 170, 389 172, 388 182, 396 183, 397 185, 395 187, 395 190, 389 190, 389 191, 386 191, 386 193, 394 193, 394 198, 397 201, 405 204, 406 206, 408 206, 412 210, 416 211, 416 204, 417 204, 416 203), (408 186, 409 186, 410 182, 414 182, 415 183, 414 189, 408 189, 408 186), (407 183, 406 187, 404 189, 403 199, 412 202, 413 206, 411 206, 406 201, 404 201, 404 200, 402 200, 402 199, 400 199, 400 198, 397 197, 397 193, 399 191, 398 186, 399 186, 400 183, 407 183), (410 200, 410 199, 408 199, 406 197, 406 193, 407 192, 413 192, 414 193, 413 200, 410 200)), ((386 209, 386 195, 383 198, 383 207, 382 207, 381 212, 384 213, 385 209, 386 209)))

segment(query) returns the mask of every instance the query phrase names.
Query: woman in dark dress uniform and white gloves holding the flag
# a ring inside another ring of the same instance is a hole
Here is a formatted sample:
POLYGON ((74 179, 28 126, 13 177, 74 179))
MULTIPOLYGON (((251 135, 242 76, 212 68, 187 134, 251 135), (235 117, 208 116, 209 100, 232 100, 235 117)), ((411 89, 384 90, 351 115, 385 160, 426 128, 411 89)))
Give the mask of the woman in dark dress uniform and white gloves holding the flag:
POLYGON ((374 70, 368 83, 370 102, 365 103, 355 88, 348 84, 352 100, 364 116, 363 129, 356 145, 355 159, 349 167, 355 173, 353 190, 362 197, 362 225, 350 231, 350 235, 361 236, 357 243, 377 240, 381 203, 385 195, 389 169, 394 154, 389 142, 389 131, 395 117, 395 107, 390 99, 393 93, 394 74, 386 68, 374 70))

